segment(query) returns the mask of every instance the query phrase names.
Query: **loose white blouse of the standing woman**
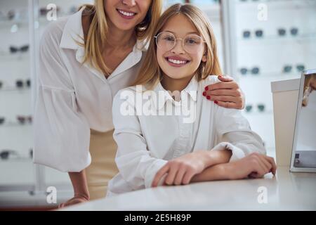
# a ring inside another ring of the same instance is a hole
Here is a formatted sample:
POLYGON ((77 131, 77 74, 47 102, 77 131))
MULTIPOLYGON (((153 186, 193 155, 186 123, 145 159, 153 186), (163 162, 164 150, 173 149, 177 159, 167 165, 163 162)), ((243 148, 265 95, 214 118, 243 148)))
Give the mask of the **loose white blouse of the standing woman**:
POLYGON ((133 51, 107 79, 82 65, 82 10, 48 25, 39 51, 34 162, 79 172, 91 163, 90 129, 109 131, 112 98, 136 78, 143 52, 133 51))

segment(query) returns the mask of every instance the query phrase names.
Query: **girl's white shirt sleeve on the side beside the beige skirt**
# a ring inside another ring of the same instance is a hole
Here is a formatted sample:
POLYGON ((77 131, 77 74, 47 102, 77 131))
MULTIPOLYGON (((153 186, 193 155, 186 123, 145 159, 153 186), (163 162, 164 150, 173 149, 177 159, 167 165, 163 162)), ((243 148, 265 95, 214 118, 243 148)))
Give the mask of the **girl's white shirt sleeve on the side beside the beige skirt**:
POLYGON ((119 91, 113 101, 114 140, 118 146, 115 162, 119 173, 133 190, 150 188, 155 174, 167 161, 152 157, 147 150, 136 108, 126 101, 123 92, 119 91), (122 112, 126 107, 129 108, 128 115, 122 112))

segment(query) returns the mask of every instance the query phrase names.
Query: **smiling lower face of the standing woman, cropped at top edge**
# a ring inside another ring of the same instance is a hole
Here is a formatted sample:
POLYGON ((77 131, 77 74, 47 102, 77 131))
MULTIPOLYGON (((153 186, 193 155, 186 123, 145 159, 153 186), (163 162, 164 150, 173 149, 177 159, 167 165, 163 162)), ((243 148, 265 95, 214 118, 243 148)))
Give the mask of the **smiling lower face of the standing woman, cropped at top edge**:
POLYGON ((152 0, 104 0, 105 14, 119 30, 134 30, 147 15, 152 0))

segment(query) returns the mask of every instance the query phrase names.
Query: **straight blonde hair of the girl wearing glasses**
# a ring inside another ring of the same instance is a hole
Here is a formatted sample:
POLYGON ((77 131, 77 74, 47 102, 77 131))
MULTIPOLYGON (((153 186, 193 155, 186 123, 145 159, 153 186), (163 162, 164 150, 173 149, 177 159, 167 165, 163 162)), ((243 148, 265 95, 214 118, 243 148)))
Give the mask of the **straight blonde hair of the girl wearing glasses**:
MULTIPOLYGON (((196 6, 192 6, 191 4, 175 4, 168 8, 158 20, 154 28, 154 36, 162 31, 168 20, 179 14, 185 15, 187 19, 195 25, 204 41, 206 41, 206 62, 202 62, 199 65, 196 72, 197 80, 201 81, 202 79, 206 79, 209 75, 222 74, 217 56, 216 39, 211 24, 204 13, 196 6)), ((136 81, 133 82, 133 86, 147 85, 147 89, 152 89, 152 87, 162 79, 162 70, 159 68, 157 61, 157 46, 154 38, 150 40, 147 55, 139 71, 136 81)))

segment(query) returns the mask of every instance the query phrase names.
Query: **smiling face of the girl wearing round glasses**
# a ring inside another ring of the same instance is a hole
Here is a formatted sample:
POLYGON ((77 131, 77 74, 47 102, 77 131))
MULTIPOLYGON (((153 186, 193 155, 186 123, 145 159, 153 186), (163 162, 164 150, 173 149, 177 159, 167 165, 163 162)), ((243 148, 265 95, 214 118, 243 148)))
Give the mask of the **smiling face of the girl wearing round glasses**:
POLYGON ((156 39, 159 67, 172 79, 192 77, 201 61, 206 61, 204 40, 185 15, 173 16, 156 39))

